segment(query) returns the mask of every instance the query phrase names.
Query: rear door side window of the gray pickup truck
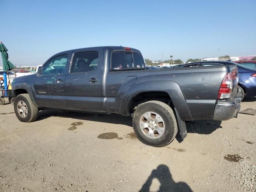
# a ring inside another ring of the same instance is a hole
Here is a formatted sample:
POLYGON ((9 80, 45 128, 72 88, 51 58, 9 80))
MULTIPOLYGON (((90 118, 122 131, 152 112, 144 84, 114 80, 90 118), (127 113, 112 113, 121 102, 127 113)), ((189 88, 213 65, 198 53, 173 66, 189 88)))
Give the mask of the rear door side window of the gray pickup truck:
POLYGON ((74 54, 70 73, 83 73, 98 68, 99 53, 93 52, 80 52, 74 54))

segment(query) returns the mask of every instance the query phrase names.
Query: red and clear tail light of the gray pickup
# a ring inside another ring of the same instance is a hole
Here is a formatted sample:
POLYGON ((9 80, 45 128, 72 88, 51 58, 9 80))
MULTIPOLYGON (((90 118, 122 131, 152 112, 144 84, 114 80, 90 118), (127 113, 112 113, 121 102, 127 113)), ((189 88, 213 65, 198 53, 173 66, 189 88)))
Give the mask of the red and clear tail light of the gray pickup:
POLYGON ((233 72, 227 73, 226 76, 224 77, 224 79, 222 80, 221 85, 220 85, 219 94, 218 94, 218 99, 230 98, 231 91, 232 91, 232 84, 233 84, 232 79, 234 78, 234 74, 236 74, 233 72))

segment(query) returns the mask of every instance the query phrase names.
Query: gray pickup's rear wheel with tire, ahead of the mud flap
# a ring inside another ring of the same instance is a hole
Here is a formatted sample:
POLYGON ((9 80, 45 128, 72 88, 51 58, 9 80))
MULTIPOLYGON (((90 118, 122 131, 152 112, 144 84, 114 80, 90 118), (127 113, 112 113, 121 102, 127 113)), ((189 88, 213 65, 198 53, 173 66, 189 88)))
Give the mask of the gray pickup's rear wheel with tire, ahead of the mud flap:
POLYGON ((138 139, 153 147, 170 144, 178 132, 172 108, 160 101, 148 101, 138 106, 132 125, 138 139))

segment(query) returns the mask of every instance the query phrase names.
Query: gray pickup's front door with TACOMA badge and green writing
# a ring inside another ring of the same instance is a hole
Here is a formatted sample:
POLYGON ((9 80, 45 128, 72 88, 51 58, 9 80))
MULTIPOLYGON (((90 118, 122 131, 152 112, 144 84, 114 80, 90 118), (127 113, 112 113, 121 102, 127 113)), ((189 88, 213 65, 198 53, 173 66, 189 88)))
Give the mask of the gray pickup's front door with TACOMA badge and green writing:
POLYGON ((44 64, 34 79, 36 103, 39 106, 65 108, 65 71, 68 54, 56 56, 44 64))

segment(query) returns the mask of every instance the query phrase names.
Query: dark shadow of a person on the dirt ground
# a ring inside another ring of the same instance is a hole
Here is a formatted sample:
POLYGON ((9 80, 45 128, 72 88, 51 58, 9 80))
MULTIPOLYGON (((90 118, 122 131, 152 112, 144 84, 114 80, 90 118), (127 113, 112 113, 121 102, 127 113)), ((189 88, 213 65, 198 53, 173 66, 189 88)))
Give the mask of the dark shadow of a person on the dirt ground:
POLYGON ((139 192, 150 192, 152 180, 156 178, 160 182, 158 192, 192 192, 188 184, 184 182, 174 182, 169 168, 166 165, 159 165, 157 169, 153 170, 148 180, 142 186, 139 192))

